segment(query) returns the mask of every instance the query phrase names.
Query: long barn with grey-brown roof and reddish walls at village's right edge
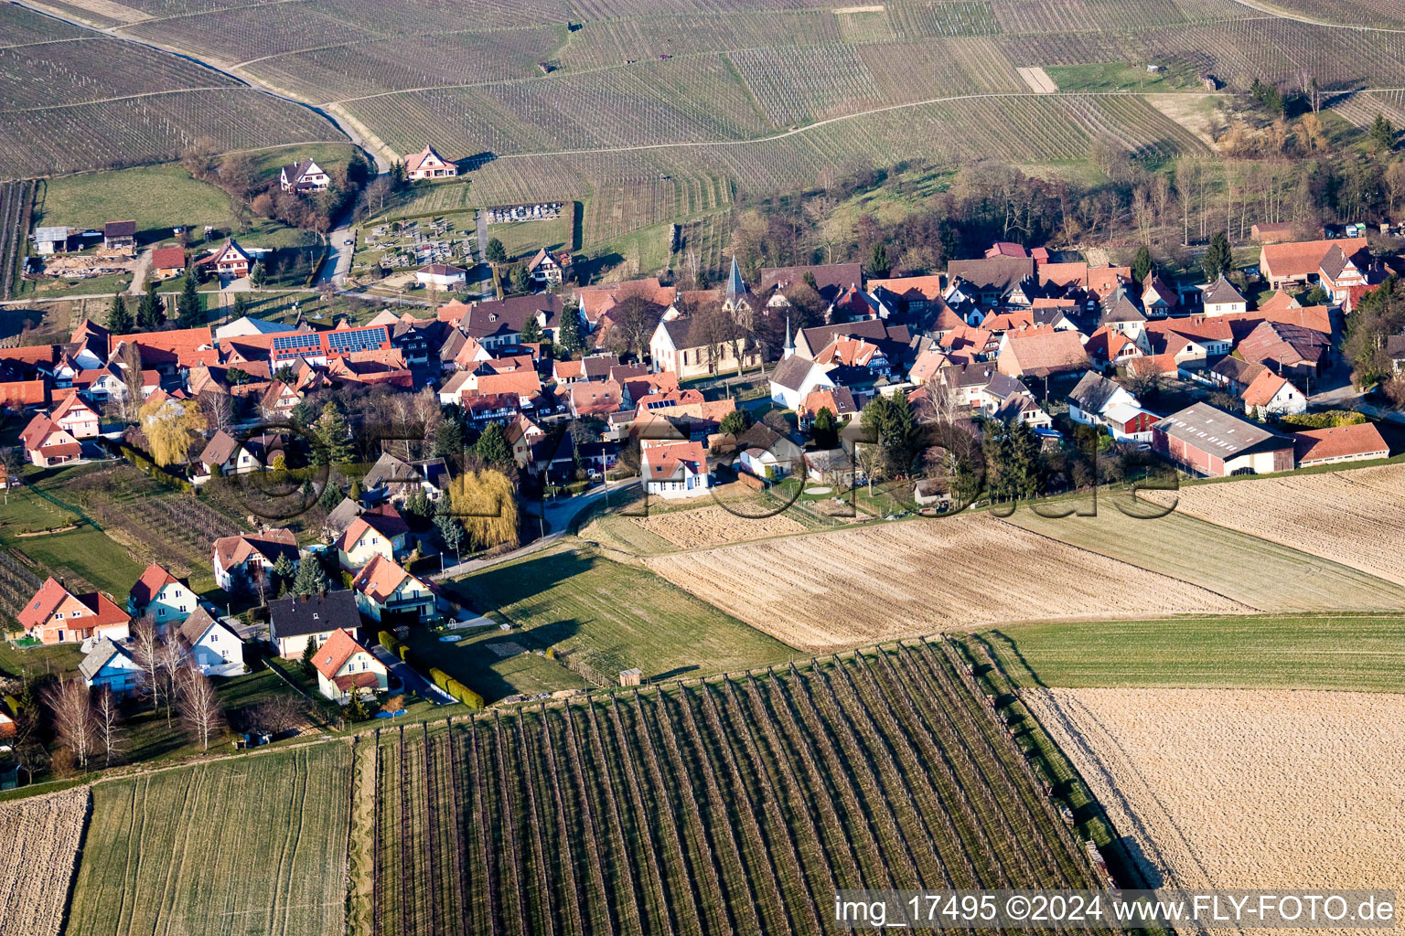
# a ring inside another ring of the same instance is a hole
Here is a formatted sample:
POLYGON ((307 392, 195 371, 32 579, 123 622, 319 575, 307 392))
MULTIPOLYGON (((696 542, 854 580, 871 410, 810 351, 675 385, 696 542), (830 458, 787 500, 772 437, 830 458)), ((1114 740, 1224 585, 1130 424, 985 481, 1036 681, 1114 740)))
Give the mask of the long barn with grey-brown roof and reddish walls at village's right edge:
POLYGON ((1207 403, 1173 413, 1151 429, 1152 449, 1191 474, 1228 477, 1293 470, 1293 439, 1207 403))

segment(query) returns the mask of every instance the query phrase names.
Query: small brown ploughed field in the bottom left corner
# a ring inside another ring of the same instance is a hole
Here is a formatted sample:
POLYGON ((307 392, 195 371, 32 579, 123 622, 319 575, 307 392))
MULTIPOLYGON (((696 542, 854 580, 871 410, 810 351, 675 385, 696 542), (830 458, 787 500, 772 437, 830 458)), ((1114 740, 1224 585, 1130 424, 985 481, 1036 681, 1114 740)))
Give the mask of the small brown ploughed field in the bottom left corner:
POLYGON ((0 936, 59 936, 89 789, 0 803, 0 936))

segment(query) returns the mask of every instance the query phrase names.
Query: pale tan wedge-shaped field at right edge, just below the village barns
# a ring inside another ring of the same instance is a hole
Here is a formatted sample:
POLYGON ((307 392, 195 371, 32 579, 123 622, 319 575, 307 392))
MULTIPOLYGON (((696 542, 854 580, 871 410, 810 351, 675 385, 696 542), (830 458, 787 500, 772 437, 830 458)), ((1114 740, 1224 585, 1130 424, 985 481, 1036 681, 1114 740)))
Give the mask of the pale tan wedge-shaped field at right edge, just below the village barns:
POLYGON ((1218 526, 1288 546, 1405 585, 1405 464, 1189 484, 1146 493, 1218 526))

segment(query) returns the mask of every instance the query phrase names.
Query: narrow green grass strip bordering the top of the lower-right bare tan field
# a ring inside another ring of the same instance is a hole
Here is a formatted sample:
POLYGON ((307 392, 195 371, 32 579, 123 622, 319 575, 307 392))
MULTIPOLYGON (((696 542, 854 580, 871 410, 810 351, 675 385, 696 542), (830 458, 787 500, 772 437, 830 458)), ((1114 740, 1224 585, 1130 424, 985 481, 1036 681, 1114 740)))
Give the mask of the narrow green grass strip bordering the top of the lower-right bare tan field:
POLYGON ((1405 615, 1059 622, 976 636, 1026 686, 1405 692, 1405 615))

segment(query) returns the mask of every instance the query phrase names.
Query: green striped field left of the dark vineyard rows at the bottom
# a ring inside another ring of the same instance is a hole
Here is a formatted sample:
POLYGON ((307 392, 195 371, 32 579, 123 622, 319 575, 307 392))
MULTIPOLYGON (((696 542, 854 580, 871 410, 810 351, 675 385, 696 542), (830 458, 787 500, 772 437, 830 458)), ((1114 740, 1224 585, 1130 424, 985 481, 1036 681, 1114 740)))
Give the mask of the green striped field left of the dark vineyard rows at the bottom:
POLYGON ((332 741, 94 784, 66 933, 341 936, 350 772, 332 741))

